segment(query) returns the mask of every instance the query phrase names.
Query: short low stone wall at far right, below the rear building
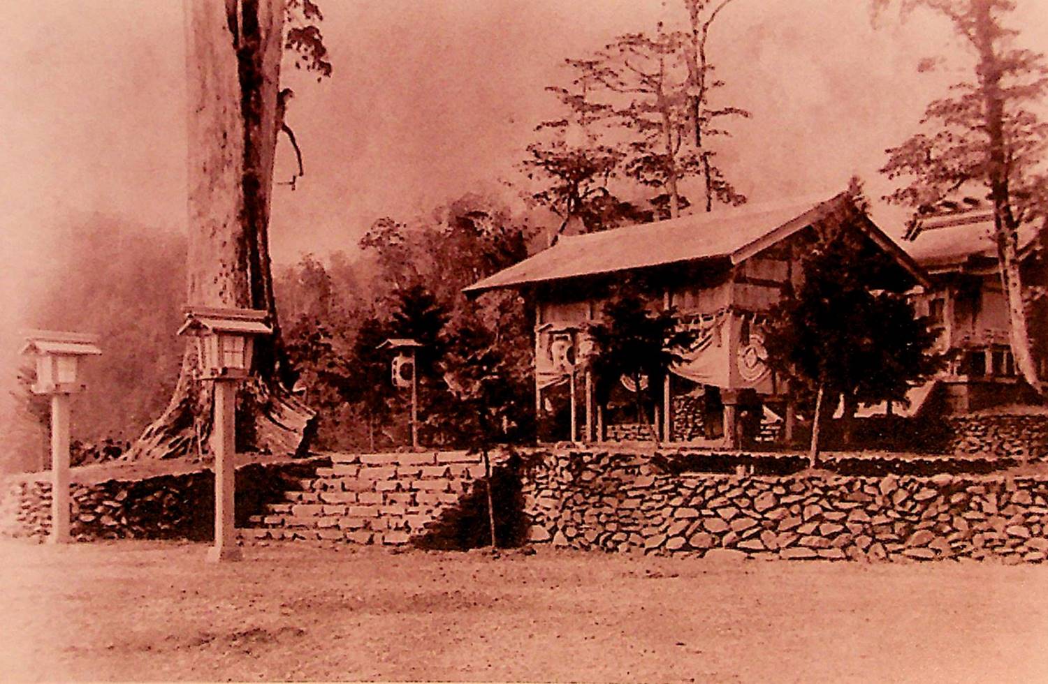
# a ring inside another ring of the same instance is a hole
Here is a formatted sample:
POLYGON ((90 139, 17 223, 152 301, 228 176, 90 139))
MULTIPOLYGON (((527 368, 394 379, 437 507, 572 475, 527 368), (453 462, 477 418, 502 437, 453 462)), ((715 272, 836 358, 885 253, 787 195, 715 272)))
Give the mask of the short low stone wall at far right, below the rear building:
POLYGON ((1048 458, 1048 416, 957 416, 947 424, 949 453, 1017 460, 1048 458))

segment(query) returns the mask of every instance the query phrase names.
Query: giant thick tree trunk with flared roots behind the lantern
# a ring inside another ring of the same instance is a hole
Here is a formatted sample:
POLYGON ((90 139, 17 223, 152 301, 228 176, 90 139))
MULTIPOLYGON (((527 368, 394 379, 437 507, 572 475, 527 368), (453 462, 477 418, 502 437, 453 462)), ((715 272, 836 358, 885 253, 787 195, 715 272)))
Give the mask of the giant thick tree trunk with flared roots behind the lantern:
MULTIPOLYGON (((277 144, 284 0, 185 0, 190 305, 264 309, 275 333, 256 340, 238 394, 237 447, 303 450, 314 414, 281 381, 268 225, 277 144)), ((192 455, 211 433, 211 388, 188 345, 171 403, 131 459, 192 455)))

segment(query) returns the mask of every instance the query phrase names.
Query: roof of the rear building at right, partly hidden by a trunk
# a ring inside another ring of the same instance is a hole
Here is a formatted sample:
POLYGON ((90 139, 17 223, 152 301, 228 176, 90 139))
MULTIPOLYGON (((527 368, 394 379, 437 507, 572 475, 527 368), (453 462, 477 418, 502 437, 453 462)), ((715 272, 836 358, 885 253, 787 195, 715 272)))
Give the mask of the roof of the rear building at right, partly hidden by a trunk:
MULTIPOLYGON (((912 237, 902 243, 903 248, 925 268, 956 268, 980 258, 997 261, 992 209, 979 208, 923 219, 910 235, 912 237)), ((1033 224, 1019 226, 1020 251, 1029 247, 1035 236, 1033 224)))

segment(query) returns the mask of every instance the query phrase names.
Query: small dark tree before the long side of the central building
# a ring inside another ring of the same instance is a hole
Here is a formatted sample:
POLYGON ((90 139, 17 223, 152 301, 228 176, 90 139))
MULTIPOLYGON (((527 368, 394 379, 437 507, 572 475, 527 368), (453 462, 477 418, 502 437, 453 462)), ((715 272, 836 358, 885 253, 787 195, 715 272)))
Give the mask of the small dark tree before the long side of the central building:
POLYGON ((627 377, 636 388, 637 421, 648 426, 652 440, 658 436, 645 413, 647 398, 655 403, 670 367, 683 360, 681 352, 695 344, 697 333, 677 328, 673 309, 654 310, 652 293, 637 279, 627 279, 604 303, 599 322, 591 325, 591 369, 597 400, 605 404, 611 389, 627 377))

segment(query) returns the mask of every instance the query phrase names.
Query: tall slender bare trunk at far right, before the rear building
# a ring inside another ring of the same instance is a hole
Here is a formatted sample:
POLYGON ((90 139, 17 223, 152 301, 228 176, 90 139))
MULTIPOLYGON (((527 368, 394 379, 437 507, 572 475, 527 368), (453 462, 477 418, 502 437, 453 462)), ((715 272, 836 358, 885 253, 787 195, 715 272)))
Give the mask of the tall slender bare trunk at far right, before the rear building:
POLYGON ((999 35, 990 12, 990 2, 974 3, 975 31, 979 50, 979 85, 982 91, 988 137, 988 175, 990 196, 994 200, 994 231, 997 239, 998 261, 1001 265, 1001 284, 1008 299, 1008 337, 1011 355, 1023 378, 1043 396, 1036 363, 1030 345, 1023 283, 1019 269, 1019 225, 1011 212, 1008 182, 1008 152, 1004 133, 1004 93, 1001 90, 1002 65, 995 39, 999 35))

